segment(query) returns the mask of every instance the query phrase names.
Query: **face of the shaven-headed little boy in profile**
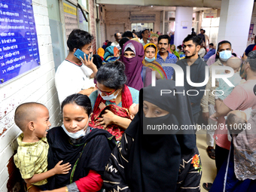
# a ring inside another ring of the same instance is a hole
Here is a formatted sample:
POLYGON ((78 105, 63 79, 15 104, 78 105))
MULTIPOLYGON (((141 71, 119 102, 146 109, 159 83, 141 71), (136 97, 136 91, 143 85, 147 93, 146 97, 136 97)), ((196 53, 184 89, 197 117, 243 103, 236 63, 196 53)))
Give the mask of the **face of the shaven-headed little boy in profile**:
POLYGON ((39 139, 46 137, 47 130, 49 130, 51 124, 49 121, 49 111, 46 107, 42 106, 38 109, 38 117, 34 121, 35 136, 39 139))

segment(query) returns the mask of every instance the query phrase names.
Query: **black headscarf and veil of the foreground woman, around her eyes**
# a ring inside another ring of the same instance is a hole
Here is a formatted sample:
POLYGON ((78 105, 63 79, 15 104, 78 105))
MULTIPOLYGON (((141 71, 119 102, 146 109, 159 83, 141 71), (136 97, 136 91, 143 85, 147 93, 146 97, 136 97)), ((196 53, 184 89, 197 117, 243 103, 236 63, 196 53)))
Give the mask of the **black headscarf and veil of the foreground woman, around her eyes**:
POLYGON ((143 134, 148 124, 163 123, 178 127, 194 124, 190 99, 184 87, 175 87, 175 81, 166 79, 156 81, 156 87, 140 90, 139 112, 125 131, 134 139, 126 169, 126 181, 132 191, 175 191, 181 154, 190 153, 196 147, 194 130, 170 130, 164 135, 155 134, 158 131, 152 131, 152 135, 143 134), (166 90, 162 96, 161 90, 166 90), (169 90, 172 93, 167 93, 169 90), (147 118, 143 113, 143 101, 151 102, 169 114, 147 118))

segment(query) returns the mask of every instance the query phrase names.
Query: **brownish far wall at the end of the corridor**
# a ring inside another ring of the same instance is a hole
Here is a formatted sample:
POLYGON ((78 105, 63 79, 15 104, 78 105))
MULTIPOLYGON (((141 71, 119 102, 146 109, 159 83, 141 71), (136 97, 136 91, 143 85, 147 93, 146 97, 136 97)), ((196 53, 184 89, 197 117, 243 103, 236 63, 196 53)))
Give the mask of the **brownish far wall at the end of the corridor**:
POLYGON ((138 14, 155 14, 156 20, 154 22, 148 21, 138 21, 136 23, 154 23, 154 32, 160 32, 160 11, 152 11, 148 12, 140 12, 140 11, 107 11, 106 12, 106 27, 107 27, 107 39, 109 41, 114 40, 114 34, 110 32, 110 25, 120 24, 124 25, 124 31, 132 29, 132 22, 130 22, 130 14, 138 15, 138 14))

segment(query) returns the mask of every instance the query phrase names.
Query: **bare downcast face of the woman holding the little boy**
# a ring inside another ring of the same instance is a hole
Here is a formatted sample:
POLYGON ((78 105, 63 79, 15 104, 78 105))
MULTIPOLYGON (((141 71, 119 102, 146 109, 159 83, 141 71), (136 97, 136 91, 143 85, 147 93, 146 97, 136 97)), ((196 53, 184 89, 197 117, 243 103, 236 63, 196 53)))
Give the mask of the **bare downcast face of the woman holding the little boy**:
POLYGON ((69 133, 77 133, 80 130, 86 130, 88 114, 79 105, 69 103, 63 107, 63 123, 69 133))

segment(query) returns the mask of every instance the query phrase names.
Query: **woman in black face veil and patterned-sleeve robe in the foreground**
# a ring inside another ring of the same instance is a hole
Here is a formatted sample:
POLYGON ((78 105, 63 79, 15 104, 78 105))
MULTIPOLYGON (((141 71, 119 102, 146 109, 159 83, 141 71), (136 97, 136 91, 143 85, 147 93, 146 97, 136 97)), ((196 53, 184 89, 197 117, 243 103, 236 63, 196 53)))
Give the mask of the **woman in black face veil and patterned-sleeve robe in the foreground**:
POLYGON ((200 191, 201 163, 193 127, 183 87, 165 79, 156 81, 156 87, 143 88, 139 112, 108 160, 103 187, 107 191, 200 191))

